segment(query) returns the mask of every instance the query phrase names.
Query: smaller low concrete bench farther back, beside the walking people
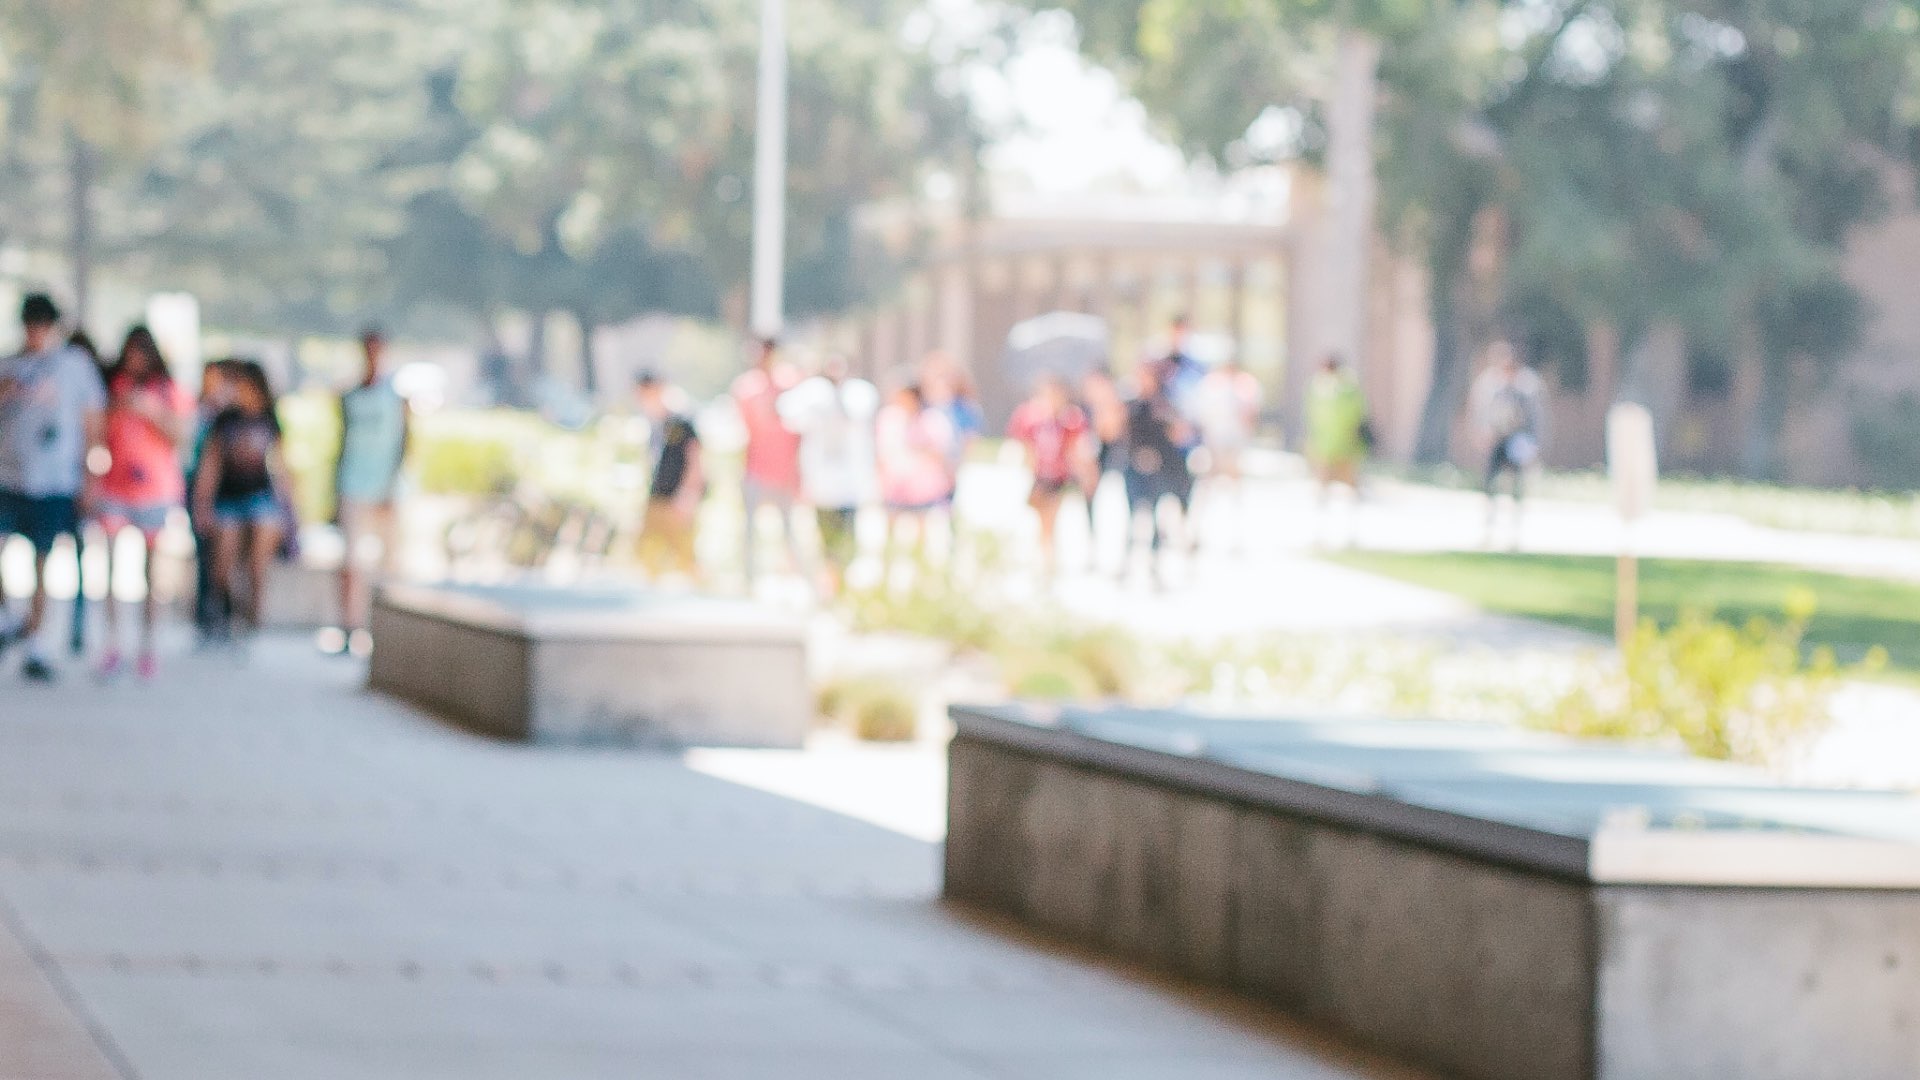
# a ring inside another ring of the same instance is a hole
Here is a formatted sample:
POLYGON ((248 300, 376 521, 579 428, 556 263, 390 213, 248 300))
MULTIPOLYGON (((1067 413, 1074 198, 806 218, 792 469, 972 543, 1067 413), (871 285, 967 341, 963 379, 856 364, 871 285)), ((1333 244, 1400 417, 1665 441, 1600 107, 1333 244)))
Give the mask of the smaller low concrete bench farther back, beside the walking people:
POLYGON ((804 626, 637 590, 386 586, 371 686, 499 738, 797 748, 804 626))

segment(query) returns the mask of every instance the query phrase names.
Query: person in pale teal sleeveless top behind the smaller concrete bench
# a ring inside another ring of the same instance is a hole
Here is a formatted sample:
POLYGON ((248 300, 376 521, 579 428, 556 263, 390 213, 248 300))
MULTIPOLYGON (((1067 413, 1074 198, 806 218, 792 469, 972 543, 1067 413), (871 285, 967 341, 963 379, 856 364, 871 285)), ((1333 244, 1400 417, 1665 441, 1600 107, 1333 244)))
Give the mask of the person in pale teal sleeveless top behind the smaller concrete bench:
POLYGON ((380 331, 361 334, 361 380, 340 396, 334 525, 342 540, 340 650, 365 655, 372 646, 367 632, 372 582, 367 571, 386 577, 399 559, 394 503, 407 465, 411 415, 382 367, 386 336, 380 331))

